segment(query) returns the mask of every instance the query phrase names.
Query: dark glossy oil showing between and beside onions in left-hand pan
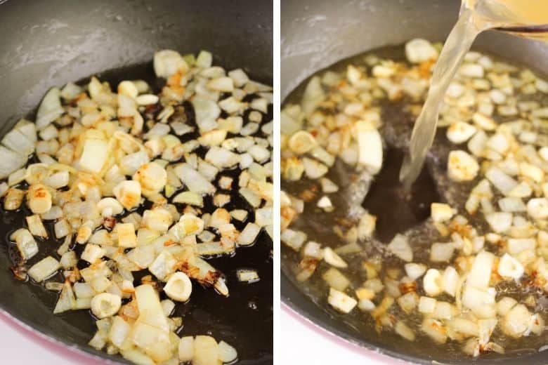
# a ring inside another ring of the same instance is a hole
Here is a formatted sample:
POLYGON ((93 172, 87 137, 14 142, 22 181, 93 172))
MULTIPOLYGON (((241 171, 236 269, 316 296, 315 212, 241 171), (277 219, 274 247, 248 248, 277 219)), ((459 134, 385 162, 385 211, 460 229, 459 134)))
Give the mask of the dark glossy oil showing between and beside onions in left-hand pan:
MULTIPOLYGON (((0 1, 1 2, 1 1, 0 1)), ((119 69, 111 69, 97 75, 102 81, 108 81, 110 85, 115 86, 126 79, 143 79, 148 82, 153 93, 158 93, 164 86, 165 81, 155 77, 152 65, 150 63, 140 65, 130 65, 119 69)), ((82 86, 89 83, 89 78, 77 82, 82 86)), ((254 94, 249 94, 244 101, 251 101, 254 94)), ((151 110, 150 113, 157 114, 159 110, 151 110)), ((190 102, 185 102, 181 107, 177 107, 176 112, 184 114, 185 123, 195 127, 195 112, 190 102)), ((269 105, 268 113, 263 120, 270 121, 273 117, 273 107, 269 105)), ((244 115, 244 121, 247 122, 249 114, 244 115)), ((145 126, 145 128, 148 128, 145 126)), ((261 133, 260 131, 258 133, 261 133)), ((187 133, 181 136, 181 141, 188 141, 197 138, 199 133, 187 133)), ((197 154, 202 157, 207 152, 203 149, 197 149, 197 154)), ((34 155, 29 163, 37 163, 39 159, 34 155)), ((240 169, 235 168, 230 171, 224 171, 223 175, 230 176, 237 181, 240 175, 240 169)), ((25 183, 23 183, 25 184, 25 183)), ((211 197, 204 198, 206 209, 214 210, 214 202, 211 197)), ((237 193, 237 190, 230 192, 230 203, 226 208, 232 210, 235 207, 248 206, 243 198, 237 193)), ((150 208, 150 202, 147 202, 146 208, 150 208)), ((138 213, 143 213, 145 206, 138 208, 138 213)), ((253 217, 254 211, 247 208, 249 216, 253 217)), ((14 274, 18 272, 18 263, 20 262, 20 253, 17 247, 11 244, 11 233, 17 227, 25 227, 25 217, 32 212, 26 204, 18 211, 6 211, 0 208, 0 232, 4 232, 4 244, 0 244, 0 255, 8 255, 11 260, 11 270, 14 274)), ((234 222, 237 229, 243 230, 245 223, 234 222)), ((62 240, 56 239, 54 234, 54 222, 44 221, 46 230, 48 230, 48 239, 39 241, 41 245, 37 258, 44 258, 48 255, 55 256, 58 246, 62 240)), ((208 334, 216 338, 224 338, 228 343, 237 347, 240 361, 244 364, 249 362, 257 364, 266 364, 272 361, 273 344, 273 270, 272 270, 272 241, 266 232, 261 232, 257 243, 240 251, 234 257, 228 259, 224 257, 209 258, 208 261, 221 270, 227 277, 234 278, 230 284, 230 296, 225 298, 219 296, 211 288, 204 288, 199 284, 193 284, 193 298, 184 305, 177 305, 174 309, 174 315, 183 317, 184 329, 179 333, 208 334), (235 282, 236 271, 242 267, 253 267, 261 275, 261 280, 252 286, 235 282), (244 319, 244 320, 236 320, 244 319)), ((74 251, 77 256, 81 255, 83 245, 74 244, 74 251)), ((2 258, 4 259, 4 258, 2 258)), ((5 260, 5 259, 4 259, 5 260)), ((89 266, 84 260, 79 260, 79 269, 89 266)), ((0 267, 4 271, 1 275, 7 277, 8 265, 0 267)), ((133 272, 136 277, 136 283, 148 272, 133 272)), ((11 278, 10 278, 11 279, 11 278)), ((58 272, 55 281, 62 281, 62 273, 58 272)), ((21 302, 25 309, 32 308, 39 314, 43 313, 41 319, 37 319, 34 325, 39 331, 47 326, 48 330, 60 332, 63 336, 60 338, 69 338, 71 343, 80 347, 87 347, 89 340, 96 331, 96 324, 91 317, 91 312, 84 310, 69 311, 56 315, 53 319, 51 314, 58 300, 58 293, 55 291, 46 291, 42 284, 9 286, 0 288, 2 293, 7 293, 6 288, 17 288, 25 294, 25 301, 21 302), (34 306, 31 307, 30 305, 34 306)), ((165 293, 161 294, 162 300, 165 293)), ((22 298, 19 296, 18 298, 22 298)), ((121 359, 121 358, 120 358, 121 359)), ((3 361, 0 361, 4 364, 3 361)), ((37 361, 37 364, 40 362, 37 361)))

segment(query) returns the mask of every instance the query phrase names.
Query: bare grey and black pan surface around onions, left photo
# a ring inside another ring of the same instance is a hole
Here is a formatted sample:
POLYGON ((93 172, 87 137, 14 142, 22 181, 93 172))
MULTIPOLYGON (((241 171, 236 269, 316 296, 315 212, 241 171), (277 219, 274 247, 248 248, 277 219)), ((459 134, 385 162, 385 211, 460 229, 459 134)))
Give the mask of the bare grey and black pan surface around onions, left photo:
MULTIPOLYGON (((0 1, 0 124, 5 133, 34 108, 51 86, 63 86, 91 74, 116 83, 122 78, 150 79, 154 51, 211 51, 227 69, 242 67, 257 81, 272 84, 272 4, 268 1, 0 1)), ((2 134, 3 134, 2 133, 2 134)), ((19 218, 20 219, 20 218, 19 218)), ((2 215, 1 237, 13 230, 13 215, 2 215)), ((252 286, 229 282, 231 295, 193 288, 182 333, 211 333, 238 350, 241 364, 272 362, 272 262, 266 234, 235 258, 216 259, 234 278, 239 267, 255 267, 261 281, 252 286), (249 305, 249 303, 252 303, 249 305), (254 305, 256 309, 254 309, 254 305), (242 320, 244 319, 244 320, 242 320)), ((4 238, 4 242, 6 238, 4 238)), ((56 293, 13 279, 8 249, 0 245, 0 308, 16 319, 67 345, 99 357, 86 343, 95 330, 86 311, 53 316, 56 293)))

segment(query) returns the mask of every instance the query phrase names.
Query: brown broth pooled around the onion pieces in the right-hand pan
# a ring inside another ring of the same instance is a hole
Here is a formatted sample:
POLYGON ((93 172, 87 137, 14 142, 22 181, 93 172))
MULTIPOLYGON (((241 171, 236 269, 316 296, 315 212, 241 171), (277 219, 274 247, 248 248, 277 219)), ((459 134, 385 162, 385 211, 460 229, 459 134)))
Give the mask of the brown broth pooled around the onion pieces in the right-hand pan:
MULTIPOLYGON (((504 62, 500 58, 491 55, 488 56, 493 62, 504 62)), ((394 60, 396 62, 405 60, 402 46, 374 49, 360 55, 355 55, 352 58, 341 60, 326 69, 319 70, 311 75, 310 78, 304 80, 284 100, 282 110, 289 105, 299 105, 308 81, 313 77, 322 77, 327 71, 343 73, 348 65, 370 69, 369 60, 371 58, 394 60)), ((518 77, 518 73, 521 70, 521 67, 516 68, 512 77, 518 77)), ((520 94, 516 95, 516 98, 518 100, 530 100, 528 95, 520 94)), ((547 94, 540 94, 535 95, 534 100, 541 105, 545 105, 547 98, 547 94)), ((409 142, 412 122, 415 120, 409 109, 409 105, 412 102, 409 98, 403 98, 403 100, 396 102, 389 102, 387 100, 379 102, 378 107, 381 110, 382 120, 382 127, 379 131, 385 142, 384 166, 372 181, 365 183, 367 187, 364 187, 363 190, 360 187, 356 188, 357 185, 364 183, 360 180, 359 173, 356 173, 351 166, 340 161, 340 159, 337 159, 334 166, 325 175, 326 178, 332 180, 339 187, 339 191, 331 195, 332 201, 337 202, 334 212, 325 213, 310 204, 305 204, 308 208, 305 208, 304 213, 290 225, 293 230, 305 232, 307 240, 318 241, 337 249, 345 246, 347 241, 334 232, 334 227, 344 226, 347 220, 353 218, 353 212, 362 206, 377 216, 378 220, 374 237, 365 244, 360 241, 360 252, 344 255, 344 259, 348 263, 348 269, 346 269, 345 274, 351 282, 350 285, 352 288, 359 287, 363 281, 368 279, 367 274, 363 270, 363 262, 365 260, 380 260, 383 263, 382 269, 378 272, 378 277, 385 277, 389 270, 400 267, 401 262, 398 258, 387 254, 385 248, 386 244, 398 232, 405 232, 405 235, 410 237, 410 244, 415 248, 416 254, 414 262, 429 265, 430 244, 436 241, 436 239, 441 239, 441 237, 438 236, 438 232, 431 225, 426 224, 424 207, 426 206, 426 215, 429 215, 431 202, 445 201, 450 206, 457 208, 457 211, 464 211, 465 201, 469 197, 470 186, 455 183, 448 178, 446 161, 448 153, 455 146, 451 145, 445 133, 437 133, 433 138, 432 148, 426 156, 426 161, 417 179, 417 184, 412 186, 412 199, 405 200, 397 196, 397 193, 402 190, 401 186, 397 183, 397 170, 403 157, 403 151, 405 151, 409 142), (396 214, 394 213, 396 211, 397 217, 395 217, 396 214)), ((422 101, 416 102, 415 100, 415 105, 422 105, 422 101)), ((334 107, 334 110, 325 111, 327 114, 336 112, 337 107, 334 107)), ((281 184, 282 190, 294 197, 302 197, 301 193, 303 192, 315 191, 314 180, 301 179, 292 182, 282 178, 281 184)), ((477 227, 481 232, 488 230, 480 215, 469 218, 469 223, 477 227)), ((414 354, 421 358, 431 356, 431 359, 436 359, 437 361, 443 360, 443 363, 469 364, 474 361, 471 357, 466 357, 466 355, 462 354, 462 343, 457 341, 448 341, 443 345, 438 345, 431 339, 426 338, 426 336, 419 335, 420 337, 417 337, 415 342, 409 342, 391 331, 377 333, 374 319, 369 314, 360 312, 360 310, 353 310, 349 314, 337 312, 326 300, 327 284, 322 275, 325 274, 327 265, 319 267, 318 272, 315 272, 307 281, 299 281, 296 279, 295 273, 297 272, 302 255, 288 248, 286 245, 282 245, 281 248, 280 265, 283 274, 313 303, 318 305, 325 312, 326 316, 332 317, 343 326, 351 328, 351 331, 358 333, 358 336, 364 338, 367 343, 398 353, 414 354)), ((530 295, 535 296, 537 303, 533 310, 542 313, 543 317, 547 315, 548 299, 543 293, 537 293, 534 288, 524 290, 523 287, 509 281, 501 285, 499 289, 501 293, 504 293, 504 296, 511 296, 516 300, 526 300, 530 295)), ((393 305, 393 307, 396 316, 403 315, 398 305, 393 305)), ((422 314, 419 312, 413 312, 410 317, 407 317, 407 324, 412 328, 416 328, 421 323, 421 316, 422 314)), ((546 345, 547 336, 547 333, 543 333, 541 336, 510 338, 502 333, 497 333, 496 336, 492 337, 493 341, 504 346, 507 350, 506 354, 497 354, 495 352, 485 353, 481 354, 480 360, 491 361, 504 358, 510 359, 508 361, 511 364, 515 364, 511 359, 518 359, 519 356, 523 356, 524 354, 537 352, 537 349, 546 345)), ((534 364, 544 363, 534 362, 534 364)))

